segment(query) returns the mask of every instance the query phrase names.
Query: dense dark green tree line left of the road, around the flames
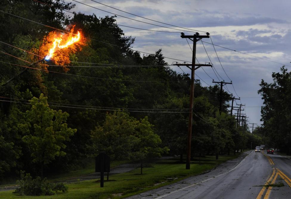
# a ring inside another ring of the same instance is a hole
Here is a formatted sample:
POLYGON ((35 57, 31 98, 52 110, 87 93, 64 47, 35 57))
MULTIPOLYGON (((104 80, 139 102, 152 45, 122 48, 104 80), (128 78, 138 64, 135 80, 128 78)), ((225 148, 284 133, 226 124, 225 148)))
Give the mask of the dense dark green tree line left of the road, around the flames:
MULTIPOLYGON (((21 169, 40 175, 40 168, 45 172, 80 168, 100 151, 106 151, 112 160, 140 161, 165 152, 182 159, 190 78, 167 67, 162 50, 141 55, 131 49, 135 38, 124 36, 114 16, 75 13, 69 17, 63 10, 74 5, 61 0, 4 0, 0 7, 58 29, 75 25, 91 38, 62 55, 71 61, 68 65, 49 66, 59 63, 46 61, 33 66, 41 70, 24 71, 17 66, 27 66, 23 60, 38 61, 38 56, 0 44, 4 52, 0 53, 2 177, 16 175, 21 169), (103 67, 70 67, 84 63, 103 67), (122 67, 125 65, 148 67, 122 67)), ((0 41, 45 55, 42 47, 51 28, 6 13, 0 13, 0 19, 5 29, 0 41)), ((211 94, 217 92, 219 86, 203 87, 195 81, 192 156, 229 154, 248 148, 251 139, 260 139, 236 128, 235 118, 226 108, 219 115, 219 98, 211 94)), ((223 104, 229 100, 224 98, 223 104)))

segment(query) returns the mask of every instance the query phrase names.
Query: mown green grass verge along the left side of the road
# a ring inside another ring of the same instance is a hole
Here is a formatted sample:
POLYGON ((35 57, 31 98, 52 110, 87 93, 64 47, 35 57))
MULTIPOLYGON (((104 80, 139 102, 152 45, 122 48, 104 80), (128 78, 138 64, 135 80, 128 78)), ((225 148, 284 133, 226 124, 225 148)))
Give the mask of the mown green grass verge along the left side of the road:
POLYGON ((215 156, 205 156, 201 158, 201 164, 199 161, 191 161, 189 170, 185 169, 185 164, 178 163, 177 159, 162 160, 152 163, 153 167, 143 168, 143 175, 140 175, 140 168, 137 168, 131 172, 109 176, 109 182, 105 181, 103 188, 100 188, 100 182, 96 182, 99 179, 95 179, 67 184, 67 193, 52 196, 17 196, 13 191, 4 191, 0 192, 0 198, 126 198, 198 175, 236 157, 219 156, 219 160, 215 160, 215 156))

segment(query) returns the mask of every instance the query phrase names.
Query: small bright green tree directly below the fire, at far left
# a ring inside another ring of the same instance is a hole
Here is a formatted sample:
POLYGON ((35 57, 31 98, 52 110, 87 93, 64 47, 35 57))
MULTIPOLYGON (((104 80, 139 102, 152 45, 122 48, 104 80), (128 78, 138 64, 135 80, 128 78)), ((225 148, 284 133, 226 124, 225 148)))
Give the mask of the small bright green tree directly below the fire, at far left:
POLYGON ((62 149, 66 148, 64 141, 69 141, 77 129, 67 127, 68 113, 49 108, 47 97, 43 94, 39 99, 33 97, 30 101, 31 109, 26 111, 24 121, 18 125, 24 134, 22 138, 31 150, 34 163, 41 165, 41 178, 43 178, 44 165, 64 156, 62 149))

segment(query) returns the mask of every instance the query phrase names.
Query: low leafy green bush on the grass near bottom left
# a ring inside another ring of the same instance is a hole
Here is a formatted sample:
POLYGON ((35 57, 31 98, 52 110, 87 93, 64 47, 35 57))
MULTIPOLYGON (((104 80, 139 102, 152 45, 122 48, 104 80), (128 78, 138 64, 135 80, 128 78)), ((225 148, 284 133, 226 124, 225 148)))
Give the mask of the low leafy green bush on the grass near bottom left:
POLYGON ((41 177, 32 179, 29 173, 21 171, 21 180, 18 180, 19 187, 13 193, 23 195, 55 195, 56 192, 67 192, 68 187, 64 183, 49 183, 47 178, 41 180, 41 177))

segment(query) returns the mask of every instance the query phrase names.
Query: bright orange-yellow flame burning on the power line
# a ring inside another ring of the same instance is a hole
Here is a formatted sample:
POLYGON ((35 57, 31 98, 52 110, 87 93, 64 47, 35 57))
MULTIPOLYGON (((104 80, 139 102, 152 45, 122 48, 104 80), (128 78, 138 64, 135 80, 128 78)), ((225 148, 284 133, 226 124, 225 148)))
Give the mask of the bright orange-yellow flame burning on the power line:
POLYGON ((46 60, 49 60, 50 58, 52 58, 53 54, 56 51, 61 50, 63 48, 67 48, 70 45, 80 41, 81 33, 78 31, 77 34, 73 34, 73 31, 74 31, 74 27, 71 29, 71 34, 61 33, 57 38, 54 38, 52 47, 49 49, 49 54, 45 57, 46 60))

